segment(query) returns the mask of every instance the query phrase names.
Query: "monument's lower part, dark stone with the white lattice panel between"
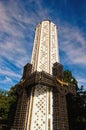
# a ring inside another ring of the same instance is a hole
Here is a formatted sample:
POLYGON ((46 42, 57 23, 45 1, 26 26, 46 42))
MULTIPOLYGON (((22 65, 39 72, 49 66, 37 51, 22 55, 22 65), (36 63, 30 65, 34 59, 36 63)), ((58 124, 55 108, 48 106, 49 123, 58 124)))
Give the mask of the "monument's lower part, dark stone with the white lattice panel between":
POLYGON ((11 130, 69 130, 66 95, 76 90, 56 80, 63 76, 61 68, 55 63, 50 75, 44 71, 31 73, 30 64, 24 67, 23 78, 16 85, 18 104, 11 130))

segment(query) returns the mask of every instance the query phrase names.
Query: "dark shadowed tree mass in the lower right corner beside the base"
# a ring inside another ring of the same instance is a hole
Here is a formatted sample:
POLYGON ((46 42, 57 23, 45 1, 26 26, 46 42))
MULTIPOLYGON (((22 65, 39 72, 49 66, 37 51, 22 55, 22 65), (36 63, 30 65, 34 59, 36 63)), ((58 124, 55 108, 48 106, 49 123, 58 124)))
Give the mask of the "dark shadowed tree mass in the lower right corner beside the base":
POLYGON ((78 89, 76 96, 68 95, 70 130, 86 130, 86 91, 78 89))

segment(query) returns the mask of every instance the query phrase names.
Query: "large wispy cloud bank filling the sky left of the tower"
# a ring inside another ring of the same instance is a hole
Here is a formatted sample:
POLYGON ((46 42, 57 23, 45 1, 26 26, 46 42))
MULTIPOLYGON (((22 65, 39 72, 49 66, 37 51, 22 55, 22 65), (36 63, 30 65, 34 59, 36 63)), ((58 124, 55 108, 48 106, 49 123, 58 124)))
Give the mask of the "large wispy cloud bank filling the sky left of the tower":
MULTIPOLYGON (((35 1, 31 0, 28 4, 32 4, 32 2, 35 1)), ((28 33, 30 39, 31 33, 34 33, 33 28, 36 22, 48 15, 47 9, 42 11, 43 7, 40 1, 35 2, 35 4, 38 7, 36 13, 34 11, 28 12, 19 1, 10 0, 6 6, 0 2, 0 30, 9 35, 4 43, 4 39, 2 39, 0 53, 1 56, 8 58, 18 67, 22 67, 28 61, 30 62, 31 58, 31 52, 27 51, 27 48, 32 46, 33 41, 32 43, 24 43, 25 33, 28 33), (14 19, 17 20, 17 24, 14 19)))

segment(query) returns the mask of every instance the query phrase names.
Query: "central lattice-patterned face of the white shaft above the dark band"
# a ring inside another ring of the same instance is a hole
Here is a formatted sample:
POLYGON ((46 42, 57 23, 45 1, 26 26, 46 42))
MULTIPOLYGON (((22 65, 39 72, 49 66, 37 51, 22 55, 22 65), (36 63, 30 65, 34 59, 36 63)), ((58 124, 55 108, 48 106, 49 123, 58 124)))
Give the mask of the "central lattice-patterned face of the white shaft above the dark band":
POLYGON ((49 22, 42 23, 42 34, 40 41, 40 57, 38 63, 38 71, 49 72, 48 54, 49 54, 49 22))

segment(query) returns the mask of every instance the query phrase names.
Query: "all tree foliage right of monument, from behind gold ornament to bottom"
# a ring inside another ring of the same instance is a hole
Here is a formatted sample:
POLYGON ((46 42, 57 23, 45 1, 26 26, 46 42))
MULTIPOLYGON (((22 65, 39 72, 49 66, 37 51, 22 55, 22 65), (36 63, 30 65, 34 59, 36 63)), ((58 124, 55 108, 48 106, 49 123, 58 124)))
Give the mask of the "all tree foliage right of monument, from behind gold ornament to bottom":
POLYGON ((67 108, 70 130, 86 130, 86 91, 78 87, 78 82, 71 71, 64 71, 64 81, 76 86, 76 96, 67 95, 67 108))

